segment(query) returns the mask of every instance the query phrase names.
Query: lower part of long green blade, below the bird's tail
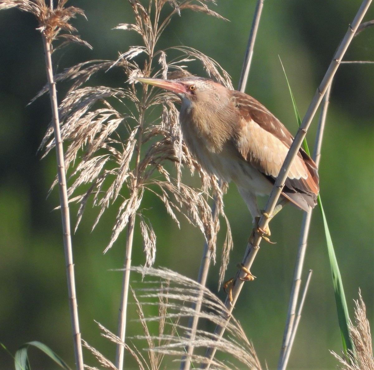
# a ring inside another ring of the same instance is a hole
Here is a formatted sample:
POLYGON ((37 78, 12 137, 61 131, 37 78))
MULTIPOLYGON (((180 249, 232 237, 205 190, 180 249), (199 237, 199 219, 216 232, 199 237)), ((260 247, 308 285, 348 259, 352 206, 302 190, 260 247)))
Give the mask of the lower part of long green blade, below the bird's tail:
POLYGON ((343 282, 341 280, 338 262, 335 256, 334 246, 332 245, 330 231, 327 225, 325 212, 322 207, 321 197, 319 195, 318 195, 318 206, 319 206, 319 209, 321 209, 322 219, 324 221, 327 251, 328 251, 328 256, 330 260, 332 283, 334 285, 334 294, 335 294, 336 309, 338 313, 338 322, 339 322, 339 327, 340 327, 341 341, 343 343, 344 353, 347 355, 348 351, 351 351, 351 353, 355 351, 355 347, 349 336, 349 329, 348 329, 349 315, 348 315, 347 301, 344 295, 343 282))

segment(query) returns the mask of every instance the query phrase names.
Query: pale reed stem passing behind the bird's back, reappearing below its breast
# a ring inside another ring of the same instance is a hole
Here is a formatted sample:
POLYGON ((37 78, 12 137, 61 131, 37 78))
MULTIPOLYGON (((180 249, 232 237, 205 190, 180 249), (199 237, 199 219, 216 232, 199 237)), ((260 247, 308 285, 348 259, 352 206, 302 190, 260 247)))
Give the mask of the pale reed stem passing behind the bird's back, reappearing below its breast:
MULTIPOLYGON (((249 34, 248 45, 246 48, 245 58, 243 62, 242 72, 240 74, 240 79, 239 79, 238 90, 241 91, 242 93, 245 91, 245 87, 248 81, 249 69, 251 67, 253 50, 255 46, 258 25, 260 24, 260 18, 261 18, 263 5, 264 5, 264 0, 257 1, 254 16, 253 16, 253 21, 252 21, 251 32, 249 34)), ((222 189, 222 187, 223 187, 223 181, 220 180, 219 188, 222 189)), ((212 215, 213 215, 212 222, 215 223, 215 221, 217 220, 217 217, 219 216, 217 198, 214 198, 214 203, 212 205, 212 215)), ((197 277, 197 282, 203 286, 206 285, 206 279, 208 277, 211 258, 212 258, 211 250, 208 248, 208 243, 205 243, 204 249, 203 249, 202 260, 200 263, 199 275, 197 277)), ((189 339, 191 340, 191 342, 195 339, 195 336, 196 336, 197 324, 199 322, 199 312, 202 306, 202 298, 203 298, 203 290, 199 292, 199 296, 197 297, 197 300, 196 300, 197 303, 192 305, 192 309, 196 311, 196 315, 191 316, 190 320, 188 321, 188 328, 190 329, 189 339)), ((194 350, 193 346, 187 347, 186 356, 182 358, 180 370, 190 369, 189 358, 192 356, 193 350, 194 350)))

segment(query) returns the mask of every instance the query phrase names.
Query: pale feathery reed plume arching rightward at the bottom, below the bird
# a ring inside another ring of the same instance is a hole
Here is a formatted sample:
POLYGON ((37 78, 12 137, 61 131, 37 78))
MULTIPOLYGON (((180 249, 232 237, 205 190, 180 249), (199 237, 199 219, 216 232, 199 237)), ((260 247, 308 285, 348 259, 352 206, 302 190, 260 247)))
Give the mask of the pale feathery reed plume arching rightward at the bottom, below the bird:
MULTIPOLYGON (((122 344, 136 359, 139 369, 156 370, 163 369, 165 366, 170 369, 170 363, 163 362, 164 356, 167 355, 169 358, 175 358, 174 361, 180 361, 180 358, 185 354, 184 348, 188 345, 200 350, 205 350, 209 346, 217 346, 217 350, 225 354, 225 361, 214 360, 211 369, 262 369, 252 343, 247 339, 239 322, 233 317, 227 327, 226 336, 221 341, 217 342, 214 334, 205 330, 198 330, 196 337, 193 340, 190 339, 190 329, 183 322, 191 315, 196 314, 196 311, 191 309, 189 305, 196 301, 197 295, 202 298, 202 309, 198 312, 199 319, 202 322, 210 322, 214 325, 221 325, 224 322, 222 311, 227 312, 227 310, 221 300, 212 294, 209 289, 186 276, 167 269, 147 268, 144 270, 141 267, 135 267, 132 270, 141 274, 145 273, 147 276, 160 278, 162 281, 160 284, 152 280, 148 281, 148 279, 142 280, 143 287, 136 289, 136 294, 133 291, 144 335, 129 338, 131 345, 122 344), (155 305, 158 306, 158 315, 145 316, 145 307, 155 305), (148 327, 150 322, 158 322, 158 334, 151 333, 148 327), (144 347, 145 342, 147 343, 145 350, 147 359, 139 351, 139 348, 144 347)), ((121 343, 117 336, 102 325, 99 324, 99 326, 103 331, 102 336, 114 343, 121 343)), ((113 364, 98 351, 88 344, 86 346, 104 367, 115 369, 113 364)), ((189 360, 194 368, 206 364, 208 361, 207 358, 196 354, 196 352, 191 355, 189 360)), ((88 367, 88 369, 96 370, 95 367, 88 367)))

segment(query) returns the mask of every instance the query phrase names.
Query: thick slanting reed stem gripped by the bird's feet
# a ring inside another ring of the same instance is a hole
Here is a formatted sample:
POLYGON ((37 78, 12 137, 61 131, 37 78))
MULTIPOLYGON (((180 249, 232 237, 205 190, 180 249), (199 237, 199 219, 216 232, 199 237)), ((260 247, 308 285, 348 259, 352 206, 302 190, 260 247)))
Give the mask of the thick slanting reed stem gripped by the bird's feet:
MULTIPOLYGON (((304 137, 307 133, 307 129, 310 126, 310 123, 312 122, 312 119, 318 109, 319 104, 322 101, 322 98, 324 97, 328 86, 331 84, 332 79, 334 78, 334 75, 339 67, 340 61, 342 60, 350 42, 352 41, 352 38, 359 26, 359 24, 362 21, 362 18, 364 18, 365 13, 367 12, 372 0, 364 0, 355 16, 355 18, 352 21, 352 24, 349 25, 348 30, 341 41, 337 51, 335 52, 334 57, 332 58, 332 61, 328 67, 327 72, 325 73, 324 78, 322 79, 321 84, 319 85, 312 102, 309 105, 309 108, 306 112, 306 115, 304 116, 303 121, 301 122, 301 126, 297 131, 297 134, 295 136, 294 141, 292 142, 292 145, 288 151, 288 154, 285 158, 285 161, 282 165, 282 168, 279 172, 279 175, 275 181, 273 190, 270 194, 269 200, 265 207, 265 212, 269 215, 271 215, 274 211, 274 208, 276 206, 276 203, 279 199, 279 196, 281 195, 285 180, 287 178, 289 169, 291 168, 292 161, 296 157, 298 150, 300 149, 300 146, 303 143, 304 137)), ((261 216, 260 221, 258 222, 258 227, 260 227, 262 230, 265 230, 267 225, 269 224, 269 219, 265 216, 261 216)), ((246 269, 250 269, 252 266, 252 263, 256 257, 256 254, 258 252, 258 249, 260 248, 260 241, 261 236, 258 234, 255 234, 252 238, 251 243, 248 243, 247 249, 243 258, 243 266, 246 269)), ((230 301, 229 297, 226 298, 225 306, 227 307, 229 314, 226 315, 226 313, 223 313, 226 316, 226 321, 228 322, 230 320, 230 314, 233 311, 234 305, 237 301, 237 298, 239 297, 240 291, 243 287, 243 279, 245 277, 246 273, 242 270, 239 270, 237 272, 236 278, 233 283, 233 289, 232 289, 232 301, 230 301)), ((217 336, 217 340, 219 340, 225 331, 225 326, 218 325, 215 329, 214 334, 217 336)), ((214 357, 216 352, 215 347, 208 348, 206 352, 206 357, 208 359, 207 363, 203 366, 204 369, 208 369, 210 367, 211 359, 214 357)))

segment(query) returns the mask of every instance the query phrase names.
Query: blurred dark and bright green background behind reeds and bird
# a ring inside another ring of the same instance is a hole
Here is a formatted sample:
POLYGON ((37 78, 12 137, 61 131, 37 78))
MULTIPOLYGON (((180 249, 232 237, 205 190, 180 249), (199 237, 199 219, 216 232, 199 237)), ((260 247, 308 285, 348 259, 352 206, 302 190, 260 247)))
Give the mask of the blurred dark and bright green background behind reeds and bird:
MULTIPOLYGON (((133 21, 127 1, 71 0, 69 4, 85 11, 88 21, 80 17, 73 24, 93 50, 77 45, 65 48, 55 57, 57 71, 91 59, 113 60, 118 52, 139 43, 135 33, 112 30, 119 23, 133 21)), ((348 0, 265 1, 246 92, 265 104, 292 133, 297 128, 278 55, 303 116, 359 4, 348 0)), ((255 1, 218 1, 214 10, 229 21, 183 12, 172 20, 159 47, 186 45, 199 49, 217 60, 237 86, 254 7, 255 1)), ((365 20, 373 18, 372 7, 365 20)), ((50 121, 49 100, 42 97, 26 106, 46 82, 42 40, 36 27, 36 20, 28 13, 14 9, 0 12, 0 342, 14 353, 24 342, 39 340, 74 366, 61 219, 59 211, 53 210, 58 205, 58 190, 46 199, 56 173, 55 153, 40 160, 37 152, 50 121)), ((374 28, 356 37, 345 59, 374 60, 374 28)), ((96 82, 118 81, 125 82, 125 76, 103 75, 96 82)), ((64 87, 59 90, 60 99, 63 93, 64 87)), ((361 288, 372 330, 373 121, 374 66, 342 65, 333 85, 322 149, 321 196, 350 315, 353 318, 353 299, 358 298, 361 288)), ((307 136, 311 147, 315 130, 316 122, 307 136)), ((242 259, 251 224, 234 185, 224 200, 234 238, 226 274, 229 278, 242 259)), ((153 207, 147 216, 158 237, 156 266, 196 278, 203 237, 181 217, 179 230, 159 205, 150 196, 144 198, 143 207, 153 207)), ((76 211, 71 207, 73 224, 76 211)), ((94 320, 116 332, 122 274, 110 269, 122 267, 125 233, 107 254, 102 254, 115 212, 104 214, 91 232, 97 209, 87 209, 73 238, 82 337, 112 361, 115 348, 100 336, 94 320)), ((301 217, 300 211, 286 207, 272 221, 277 244, 262 244, 252 267, 257 279, 245 284, 234 310, 258 357, 269 369, 276 368, 281 348, 301 217)), ((135 265, 144 263, 139 230, 136 234, 135 265)), ((220 248, 224 230, 219 239, 220 248)), ((213 292, 217 292, 218 265, 209 275, 213 292)), ((334 369, 337 363, 329 350, 340 353, 341 341, 317 209, 306 255, 305 271, 309 269, 313 269, 312 282, 288 369, 334 369)), ((218 294, 224 298, 223 292, 218 294)), ((136 318, 134 306, 130 306, 129 316, 136 318)), ((130 322, 128 333, 138 334, 139 324, 130 322)), ((36 368, 55 368, 42 354, 31 351, 31 357, 36 368)), ((85 360, 97 366, 86 351, 85 360)), ((129 360, 126 369, 134 366, 129 360)), ((0 369, 12 367, 12 358, 1 351, 0 369)))

